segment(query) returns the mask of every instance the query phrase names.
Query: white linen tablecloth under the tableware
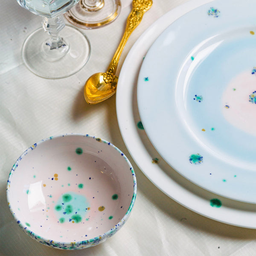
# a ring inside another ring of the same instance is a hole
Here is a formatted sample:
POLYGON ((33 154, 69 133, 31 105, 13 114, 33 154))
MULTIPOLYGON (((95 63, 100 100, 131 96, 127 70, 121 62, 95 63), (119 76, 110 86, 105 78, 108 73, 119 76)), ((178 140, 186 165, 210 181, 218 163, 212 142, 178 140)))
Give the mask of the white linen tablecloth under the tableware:
MULTIPOLYGON (((128 51, 145 29, 184 2, 154 0, 128 40, 117 75, 128 51)), ((91 44, 89 61, 73 76, 50 80, 29 72, 21 59, 24 40, 41 26, 42 18, 21 8, 15 0, 1 0, 0 255, 256 255, 256 230, 223 224, 192 212, 145 177, 122 140, 115 96, 98 105, 85 102, 84 83, 93 73, 107 69, 130 11, 131 0, 122 0, 121 14, 113 23, 99 29, 80 29, 91 44), (65 133, 90 134, 110 141, 129 158, 137 176, 137 199, 127 223, 104 243, 84 250, 53 249, 29 238, 14 221, 6 201, 7 178, 20 154, 41 139, 65 133)))

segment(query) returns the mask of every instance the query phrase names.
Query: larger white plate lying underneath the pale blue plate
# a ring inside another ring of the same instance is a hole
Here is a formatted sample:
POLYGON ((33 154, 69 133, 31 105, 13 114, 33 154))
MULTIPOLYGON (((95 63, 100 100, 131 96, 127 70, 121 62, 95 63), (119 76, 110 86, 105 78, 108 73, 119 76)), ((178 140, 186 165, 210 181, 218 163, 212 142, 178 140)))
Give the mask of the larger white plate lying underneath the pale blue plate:
MULTIPOLYGON (((125 145, 137 166, 162 192, 184 207, 208 218, 239 227, 255 229, 256 204, 244 203, 216 195, 180 175, 163 160, 148 139, 140 122, 141 117, 137 106, 137 81, 145 54, 170 24, 192 9, 206 3, 208 3, 207 8, 211 8, 213 4, 215 6, 215 2, 210 3, 207 0, 191 0, 178 6, 154 22, 136 41, 125 58, 119 74, 116 91, 117 119, 125 145)), ((216 7, 218 8, 218 6, 216 7)), ((232 3, 230 12, 232 12, 233 7, 235 7, 235 4, 232 3)), ((233 15, 235 15, 234 12, 233 15)), ((214 77, 212 75, 211 79, 214 79, 214 77)), ((159 87, 159 83, 156 84, 156 87, 159 87)), ((148 99, 149 101, 154 101, 154 99, 148 99)), ((162 138, 169 140, 168 137, 162 138)), ((172 144, 169 144, 170 150, 172 144)), ((187 157, 185 160, 187 161, 187 157)), ((190 163, 189 168, 192 166, 193 164, 190 163)), ((201 166, 203 166, 203 163, 199 165, 199 167, 201 166)))

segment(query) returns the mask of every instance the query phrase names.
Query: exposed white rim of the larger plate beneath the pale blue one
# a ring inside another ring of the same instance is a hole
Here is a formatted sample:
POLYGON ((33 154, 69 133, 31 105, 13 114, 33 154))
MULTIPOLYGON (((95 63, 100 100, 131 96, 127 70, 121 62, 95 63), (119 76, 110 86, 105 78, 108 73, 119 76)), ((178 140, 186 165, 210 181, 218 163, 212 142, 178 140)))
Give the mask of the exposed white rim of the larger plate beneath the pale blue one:
MULTIPOLYGON (((151 24, 151 26, 149 26, 142 35, 140 35, 128 52, 119 74, 119 82, 116 90, 117 121, 124 143, 134 162, 144 175, 154 184, 154 186, 157 186, 157 188, 169 196, 169 198, 172 198, 177 203, 207 218, 220 221, 225 224, 256 229, 256 209, 250 209, 251 204, 233 201, 231 199, 215 195, 222 199, 223 204, 220 208, 212 207, 209 204, 209 199, 194 192, 190 192, 189 189, 186 189, 174 179, 166 175, 159 166, 145 162, 150 158, 150 155, 146 152, 143 141, 140 140, 140 134, 136 128, 134 120, 134 82, 136 82, 138 76, 137 69, 140 68, 140 64, 142 62, 141 58, 143 58, 147 49, 168 25, 174 22, 177 18, 186 14, 186 12, 210 2, 212 2, 212 0, 189 0, 161 16, 159 19, 154 21, 154 23, 151 24), (151 38, 152 32, 154 32, 154 38, 151 38), (143 49, 141 48, 142 45, 145 46, 143 49), (131 63, 133 65, 130 65, 131 63), (137 147, 134 147, 136 144, 137 147), (142 153, 140 157, 137 155, 138 152, 142 153), (151 169, 146 169, 145 167, 151 167, 151 169), (157 172, 157 175, 159 175, 160 180, 168 180, 169 188, 163 188, 161 183, 154 178, 155 171, 157 172), (174 190, 175 193, 173 193, 174 190), (249 209, 247 209, 247 207, 249 207, 249 209)), ((194 184, 192 186, 196 190, 199 189, 194 184)), ((200 188, 199 190, 202 191, 203 189, 200 188)), ((211 192, 206 193, 207 195, 211 194, 211 192)))

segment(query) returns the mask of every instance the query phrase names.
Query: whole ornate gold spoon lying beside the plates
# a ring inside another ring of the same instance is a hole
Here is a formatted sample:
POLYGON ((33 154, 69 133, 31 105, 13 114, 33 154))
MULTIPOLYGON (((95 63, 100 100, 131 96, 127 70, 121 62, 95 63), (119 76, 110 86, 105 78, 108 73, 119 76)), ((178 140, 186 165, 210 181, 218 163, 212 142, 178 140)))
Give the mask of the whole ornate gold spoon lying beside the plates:
POLYGON ((142 17, 152 6, 152 0, 133 0, 132 10, 128 16, 126 28, 122 40, 108 66, 106 73, 96 73, 86 81, 84 85, 84 98, 88 104, 97 104, 110 98, 116 92, 118 76, 116 76, 116 67, 125 44, 140 24, 142 17))

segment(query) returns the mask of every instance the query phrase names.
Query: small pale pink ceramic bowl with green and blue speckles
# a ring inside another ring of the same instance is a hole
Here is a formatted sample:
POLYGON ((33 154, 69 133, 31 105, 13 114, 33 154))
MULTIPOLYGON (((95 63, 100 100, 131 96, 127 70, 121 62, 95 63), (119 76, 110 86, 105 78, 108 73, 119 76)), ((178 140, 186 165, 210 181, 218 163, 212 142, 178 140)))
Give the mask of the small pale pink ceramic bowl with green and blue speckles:
POLYGON ((134 206, 137 183, 125 155, 82 134, 49 137, 16 161, 7 183, 20 227, 50 247, 74 250, 105 241, 134 206))

